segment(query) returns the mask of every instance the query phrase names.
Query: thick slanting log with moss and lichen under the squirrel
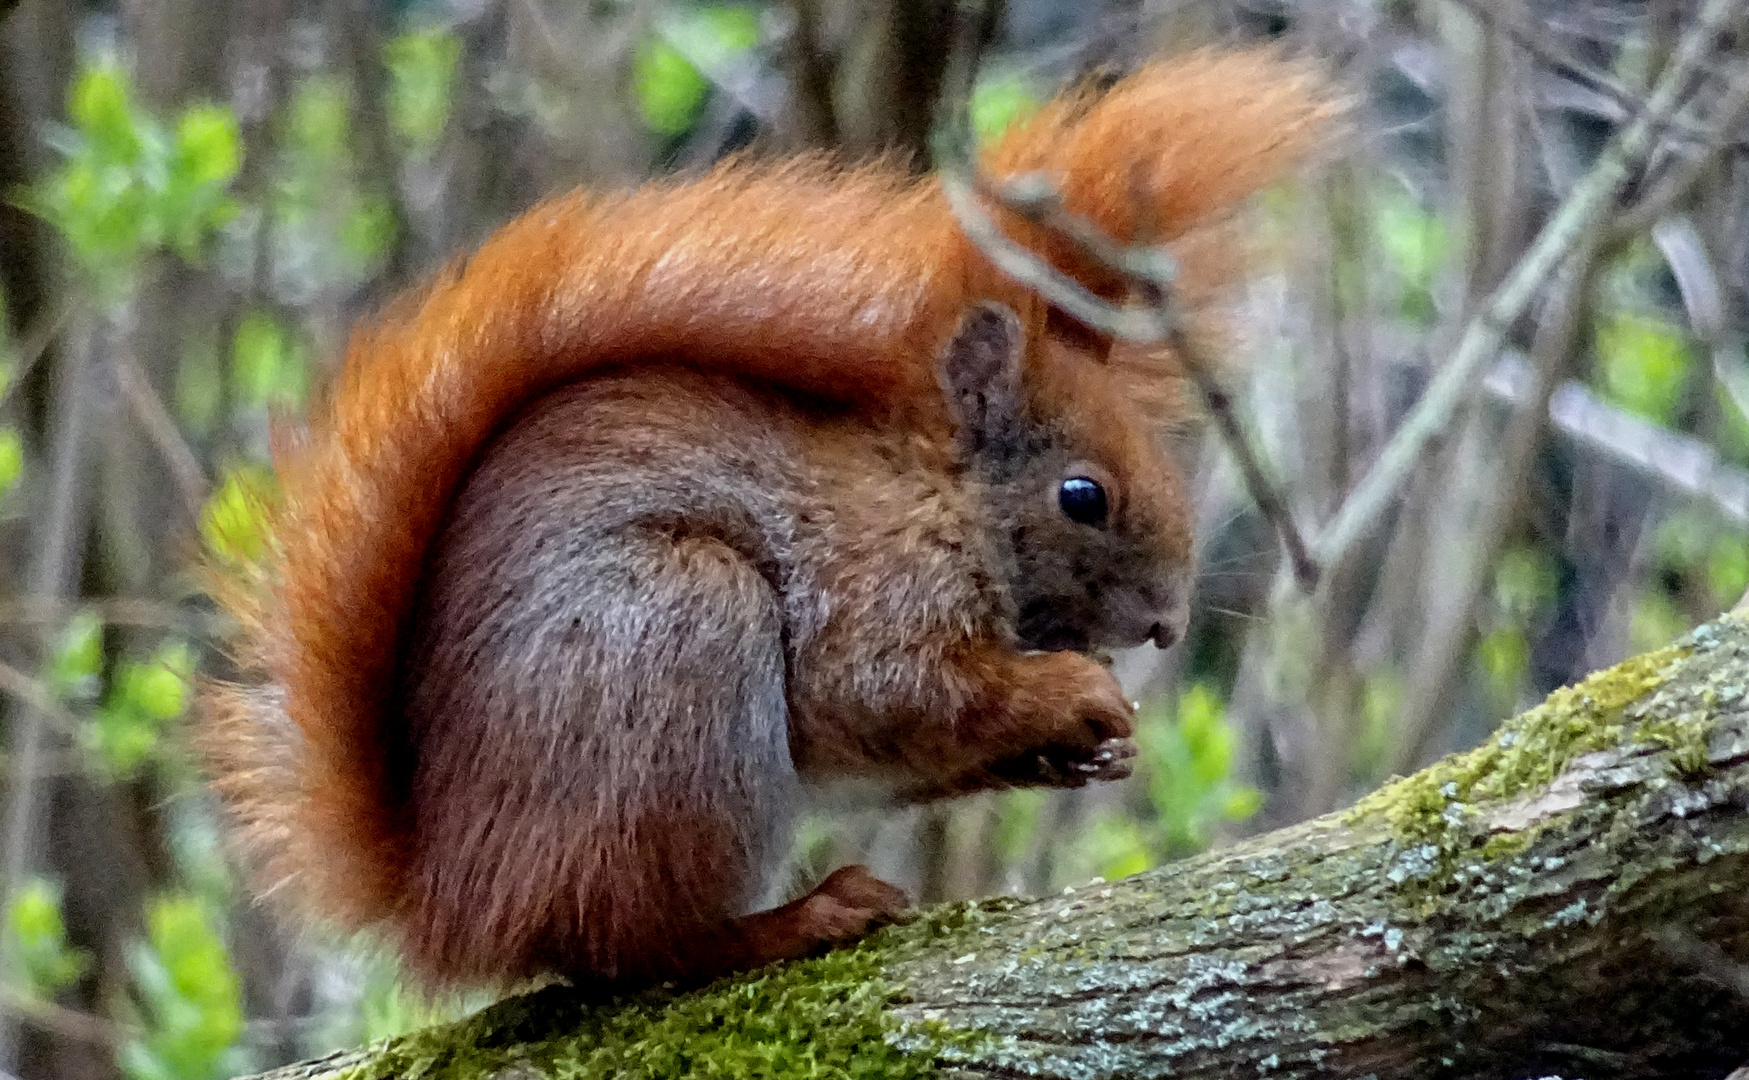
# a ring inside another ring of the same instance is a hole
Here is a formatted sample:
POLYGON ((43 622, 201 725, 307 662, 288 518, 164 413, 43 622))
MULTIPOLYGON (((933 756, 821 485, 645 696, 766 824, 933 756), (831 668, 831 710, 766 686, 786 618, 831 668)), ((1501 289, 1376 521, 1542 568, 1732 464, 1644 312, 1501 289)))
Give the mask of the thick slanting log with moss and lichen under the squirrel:
POLYGON ((273 1073, 1726 1076, 1749 1061, 1749 616, 1359 805, 934 908, 693 994, 546 987, 273 1073))

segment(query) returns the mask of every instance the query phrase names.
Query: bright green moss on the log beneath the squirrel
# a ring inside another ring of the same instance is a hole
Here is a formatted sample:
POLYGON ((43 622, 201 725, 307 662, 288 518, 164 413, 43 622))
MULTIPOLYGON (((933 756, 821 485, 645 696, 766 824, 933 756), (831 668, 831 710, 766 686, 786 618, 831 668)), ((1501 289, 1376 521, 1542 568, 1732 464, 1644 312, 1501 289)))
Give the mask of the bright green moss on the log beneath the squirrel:
POLYGON ((932 1076, 941 1048, 976 1036, 902 1024, 888 1006, 904 999, 904 989, 887 971, 981 915, 972 907, 937 908, 857 947, 687 994, 591 1006, 568 987, 546 987, 390 1040, 346 1080, 932 1076))

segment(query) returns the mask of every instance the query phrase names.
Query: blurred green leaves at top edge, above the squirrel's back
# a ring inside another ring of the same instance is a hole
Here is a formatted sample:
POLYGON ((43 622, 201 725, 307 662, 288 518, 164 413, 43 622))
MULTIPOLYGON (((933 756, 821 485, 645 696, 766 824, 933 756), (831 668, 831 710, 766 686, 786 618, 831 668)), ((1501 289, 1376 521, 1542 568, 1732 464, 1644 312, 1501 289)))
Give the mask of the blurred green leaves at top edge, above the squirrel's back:
POLYGON ((644 123, 658 135, 680 135, 698 119, 710 81, 687 60, 715 68, 759 44, 759 14, 742 4, 700 4, 663 25, 631 61, 631 91, 644 123))

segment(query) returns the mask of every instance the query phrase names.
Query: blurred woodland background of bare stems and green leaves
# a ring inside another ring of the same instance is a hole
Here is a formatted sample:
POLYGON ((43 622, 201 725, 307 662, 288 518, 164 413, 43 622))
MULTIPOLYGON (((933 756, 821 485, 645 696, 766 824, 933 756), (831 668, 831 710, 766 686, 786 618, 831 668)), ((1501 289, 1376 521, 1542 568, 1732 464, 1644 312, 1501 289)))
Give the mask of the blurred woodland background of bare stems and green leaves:
MULTIPOLYGON (((950 0, 0 0, 0 1068, 219 1080, 465 1008, 252 905, 199 788, 185 571, 248 536, 269 418, 369 313, 544 193, 735 151, 929 168, 950 0)), ((1644 103, 1683 0, 1006 0, 981 133, 1205 42, 1320 58, 1357 109, 1258 200, 1242 413, 1313 527, 1644 103)), ((1742 33, 1742 26, 1737 28, 1742 33)), ((1739 37, 1737 40, 1744 40, 1739 37)), ((932 901, 1133 873, 1340 807, 1749 585, 1742 56, 1632 208, 1508 327, 1313 607, 1230 455, 1186 436, 1189 639, 1119 660, 1123 784, 810 819, 932 901), (1730 82, 1730 75, 1737 75, 1730 82)))

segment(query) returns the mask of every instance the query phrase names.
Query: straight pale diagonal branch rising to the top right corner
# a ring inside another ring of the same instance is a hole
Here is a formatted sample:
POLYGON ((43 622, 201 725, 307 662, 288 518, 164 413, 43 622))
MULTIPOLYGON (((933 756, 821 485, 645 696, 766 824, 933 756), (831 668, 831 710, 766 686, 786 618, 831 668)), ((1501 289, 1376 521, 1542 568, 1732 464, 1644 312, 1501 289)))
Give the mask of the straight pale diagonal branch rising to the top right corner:
POLYGON ((1474 394, 1481 373, 1501 352, 1506 329, 1541 292, 1579 238, 1604 226, 1628 177, 1651 154, 1656 128, 1676 112, 1737 7, 1739 0, 1707 0, 1658 77, 1646 110, 1604 147, 1592 172, 1562 200, 1525 256, 1469 320, 1452 357, 1324 529, 1313 548, 1322 565, 1345 558, 1383 518, 1429 443, 1445 432, 1459 408, 1474 394))

